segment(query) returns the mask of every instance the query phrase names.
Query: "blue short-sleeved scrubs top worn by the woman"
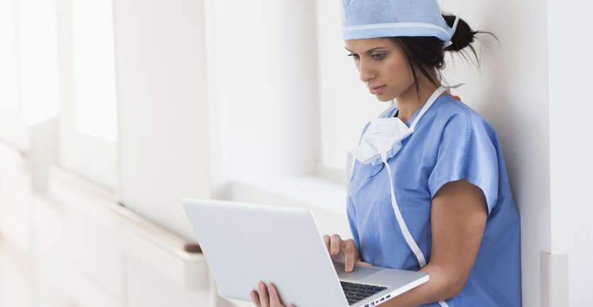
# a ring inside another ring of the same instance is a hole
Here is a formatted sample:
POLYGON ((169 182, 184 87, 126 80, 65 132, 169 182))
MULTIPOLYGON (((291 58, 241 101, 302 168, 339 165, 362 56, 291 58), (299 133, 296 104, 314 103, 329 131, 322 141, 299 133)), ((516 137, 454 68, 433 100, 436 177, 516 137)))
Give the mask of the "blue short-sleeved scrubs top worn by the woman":
MULTIPOLYGON (((383 116, 396 112, 393 106, 383 116)), ((486 196, 489 216, 476 262, 461 294, 447 304, 521 306, 519 216, 494 128, 461 101, 445 95, 428 108, 402 145, 387 162, 401 214, 427 262, 432 245, 430 206, 441 186, 466 179, 486 196)), ((418 271, 418 260, 393 212, 389 184, 382 163, 354 162, 347 199, 352 235, 365 262, 418 271)))

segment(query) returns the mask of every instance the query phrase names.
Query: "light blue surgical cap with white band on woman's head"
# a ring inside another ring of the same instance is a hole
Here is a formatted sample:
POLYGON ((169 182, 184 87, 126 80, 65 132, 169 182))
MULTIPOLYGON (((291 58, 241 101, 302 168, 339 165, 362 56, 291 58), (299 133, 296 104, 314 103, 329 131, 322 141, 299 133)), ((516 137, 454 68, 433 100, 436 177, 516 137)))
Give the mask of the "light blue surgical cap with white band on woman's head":
POLYGON ((435 36, 445 45, 455 33, 437 0, 342 0, 342 38, 435 36))

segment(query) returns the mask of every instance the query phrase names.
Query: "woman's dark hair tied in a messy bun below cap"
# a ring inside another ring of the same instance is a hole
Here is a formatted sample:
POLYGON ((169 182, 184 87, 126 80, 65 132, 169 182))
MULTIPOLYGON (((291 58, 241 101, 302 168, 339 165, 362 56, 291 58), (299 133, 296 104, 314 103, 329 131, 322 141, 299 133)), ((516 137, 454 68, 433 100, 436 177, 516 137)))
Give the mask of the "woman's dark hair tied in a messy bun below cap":
MULTIPOLYGON (((450 27, 455 23, 455 16, 453 15, 443 15, 442 17, 445 18, 447 25, 450 27)), ((467 59, 469 52, 465 48, 468 47, 471 55, 474 56, 476 62, 479 64, 478 55, 473 43, 477 39, 477 36, 482 33, 492 35, 496 38, 496 35, 492 33, 472 30, 463 19, 459 18, 455 34, 451 38, 451 45, 447 46, 447 48, 443 48, 442 40, 433 36, 399 36, 393 38, 393 40, 403 48, 406 57, 408 57, 416 90, 420 94, 420 86, 418 85, 418 76, 415 69, 418 69, 432 84, 440 85, 437 80, 430 76, 427 67, 435 69, 437 77, 440 77, 439 70, 445 68, 445 51, 459 53, 459 55, 467 59)))

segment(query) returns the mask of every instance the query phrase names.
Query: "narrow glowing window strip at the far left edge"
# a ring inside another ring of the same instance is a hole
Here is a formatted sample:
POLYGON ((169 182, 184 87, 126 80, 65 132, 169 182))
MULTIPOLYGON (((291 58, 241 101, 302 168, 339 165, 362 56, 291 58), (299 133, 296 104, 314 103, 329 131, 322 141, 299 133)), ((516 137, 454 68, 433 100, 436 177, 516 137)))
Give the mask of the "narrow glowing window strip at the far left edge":
POLYGON ((0 108, 16 109, 16 54, 13 1, 0 1, 0 108))

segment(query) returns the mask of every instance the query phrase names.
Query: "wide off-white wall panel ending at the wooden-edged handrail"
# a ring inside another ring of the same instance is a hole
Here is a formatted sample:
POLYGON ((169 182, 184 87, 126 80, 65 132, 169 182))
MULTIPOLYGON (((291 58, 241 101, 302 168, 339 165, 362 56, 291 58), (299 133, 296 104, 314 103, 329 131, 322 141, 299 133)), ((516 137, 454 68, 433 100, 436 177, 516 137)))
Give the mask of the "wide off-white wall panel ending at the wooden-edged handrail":
POLYGON ((194 240, 182 197, 210 197, 202 1, 114 1, 119 200, 194 240))

